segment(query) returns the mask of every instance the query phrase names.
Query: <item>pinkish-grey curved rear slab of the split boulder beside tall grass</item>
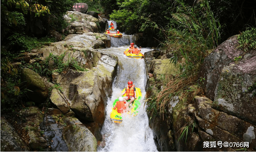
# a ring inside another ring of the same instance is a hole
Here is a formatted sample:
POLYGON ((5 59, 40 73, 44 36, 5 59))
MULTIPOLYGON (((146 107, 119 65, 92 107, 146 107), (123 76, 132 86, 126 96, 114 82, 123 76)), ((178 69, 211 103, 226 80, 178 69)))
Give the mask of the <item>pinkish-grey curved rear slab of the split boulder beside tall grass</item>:
POLYGON ((214 100, 215 89, 222 69, 225 66, 234 64, 234 58, 239 56, 243 56, 242 60, 247 60, 252 58, 252 56, 255 56, 255 51, 254 53, 250 53, 250 51, 245 53, 243 50, 238 48, 239 44, 237 37, 238 35, 228 38, 228 40, 220 44, 204 59, 204 63, 200 70, 200 77, 205 79, 203 91, 211 100, 214 100))

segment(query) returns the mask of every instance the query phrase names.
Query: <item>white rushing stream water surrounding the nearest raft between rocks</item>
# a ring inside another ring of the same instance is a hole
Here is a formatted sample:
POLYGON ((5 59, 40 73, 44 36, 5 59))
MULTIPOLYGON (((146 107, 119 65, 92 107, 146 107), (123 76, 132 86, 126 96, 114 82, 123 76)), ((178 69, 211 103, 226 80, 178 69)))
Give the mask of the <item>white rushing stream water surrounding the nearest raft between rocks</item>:
MULTIPOLYGON (((153 132, 149 127, 144 97, 147 74, 144 59, 132 59, 123 53, 130 45, 135 42, 135 38, 130 35, 123 35, 122 38, 111 37, 111 48, 99 50, 104 54, 115 54, 118 57, 117 76, 113 81, 112 96, 107 101, 106 118, 102 128, 103 141, 98 151, 157 151, 154 143, 153 132), (138 115, 130 116, 123 114, 123 121, 115 124, 110 121, 112 104, 116 98, 122 96, 121 91, 131 80, 136 88, 142 92, 142 100, 138 115)), ((142 54, 150 51, 149 48, 142 48, 142 54)))

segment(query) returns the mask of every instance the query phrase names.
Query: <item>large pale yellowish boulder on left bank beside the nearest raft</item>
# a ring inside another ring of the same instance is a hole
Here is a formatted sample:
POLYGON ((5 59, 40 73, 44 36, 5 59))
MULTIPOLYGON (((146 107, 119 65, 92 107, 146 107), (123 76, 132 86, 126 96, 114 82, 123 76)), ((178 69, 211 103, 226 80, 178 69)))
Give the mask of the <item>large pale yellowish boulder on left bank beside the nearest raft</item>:
POLYGON ((91 61, 91 69, 84 72, 69 69, 62 72, 56 82, 60 84, 72 111, 81 120, 95 123, 91 131, 100 139, 98 135, 105 119, 105 101, 112 93, 110 88, 118 64, 115 56, 94 51, 91 54, 87 56, 87 62, 91 61))

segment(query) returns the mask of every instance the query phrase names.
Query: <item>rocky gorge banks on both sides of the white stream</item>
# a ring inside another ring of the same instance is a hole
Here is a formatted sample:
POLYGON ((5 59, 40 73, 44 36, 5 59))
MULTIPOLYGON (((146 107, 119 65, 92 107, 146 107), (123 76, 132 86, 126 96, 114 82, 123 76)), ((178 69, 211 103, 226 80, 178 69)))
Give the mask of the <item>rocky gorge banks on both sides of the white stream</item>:
MULTIPOLYGON (((70 26, 64 40, 24 53, 13 64, 64 55, 63 62, 74 59, 86 70, 55 72, 52 80, 47 80, 24 68, 22 79, 33 90, 29 94, 31 101, 40 104, 48 99, 55 108, 29 106, 20 110, 15 120, 1 116, 1 151, 97 151, 102 141, 105 101, 112 93, 118 58, 97 50, 110 47, 108 37, 98 33, 98 25, 106 25, 104 18, 73 11, 65 18, 70 26), (70 15, 76 16, 77 21, 71 22, 70 15), (62 89, 54 87, 56 84, 62 89)), ((218 145, 204 148, 205 141, 248 142, 246 150, 256 150, 256 51, 244 53, 237 45, 237 36, 232 36, 205 58, 200 72, 204 96, 196 96, 192 101, 174 96, 164 119, 150 119, 159 151, 240 149, 218 145), (234 61, 238 56, 242 59, 234 61), (182 128, 188 130, 186 139, 180 139, 182 128)), ((164 54, 164 50, 144 54, 147 71, 152 74, 148 88, 160 82, 166 72, 176 71, 164 54)), ((49 64, 54 65, 54 60, 50 59, 49 64)))

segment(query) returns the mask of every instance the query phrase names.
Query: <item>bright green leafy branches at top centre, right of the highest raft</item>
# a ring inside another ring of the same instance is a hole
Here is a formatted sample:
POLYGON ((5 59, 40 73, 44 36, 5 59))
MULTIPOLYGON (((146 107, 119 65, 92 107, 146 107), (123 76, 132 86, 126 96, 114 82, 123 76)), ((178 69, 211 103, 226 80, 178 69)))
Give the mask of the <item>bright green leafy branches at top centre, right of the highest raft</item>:
POLYGON ((148 32, 152 34, 154 24, 165 26, 170 17, 171 2, 166 0, 116 0, 118 10, 113 10, 110 19, 115 20, 128 34, 148 32))

